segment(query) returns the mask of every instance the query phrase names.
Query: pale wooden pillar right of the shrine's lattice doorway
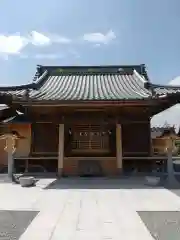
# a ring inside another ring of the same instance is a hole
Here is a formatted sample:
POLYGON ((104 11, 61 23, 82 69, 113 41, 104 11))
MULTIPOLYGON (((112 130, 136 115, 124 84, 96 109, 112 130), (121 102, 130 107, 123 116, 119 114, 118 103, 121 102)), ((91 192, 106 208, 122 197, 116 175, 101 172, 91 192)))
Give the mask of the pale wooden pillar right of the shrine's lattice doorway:
POLYGON ((122 173, 122 138, 120 124, 116 124, 116 159, 118 173, 122 173))

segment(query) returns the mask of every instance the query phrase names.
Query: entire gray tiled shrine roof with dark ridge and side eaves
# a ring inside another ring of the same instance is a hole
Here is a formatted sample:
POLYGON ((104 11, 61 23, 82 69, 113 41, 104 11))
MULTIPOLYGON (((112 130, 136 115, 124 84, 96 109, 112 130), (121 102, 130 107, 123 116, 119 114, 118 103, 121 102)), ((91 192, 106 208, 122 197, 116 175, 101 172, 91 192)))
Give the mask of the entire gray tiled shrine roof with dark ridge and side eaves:
POLYGON ((149 82, 144 65, 95 67, 38 66, 31 84, 0 88, 33 100, 141 100, 180 92, 149 82))

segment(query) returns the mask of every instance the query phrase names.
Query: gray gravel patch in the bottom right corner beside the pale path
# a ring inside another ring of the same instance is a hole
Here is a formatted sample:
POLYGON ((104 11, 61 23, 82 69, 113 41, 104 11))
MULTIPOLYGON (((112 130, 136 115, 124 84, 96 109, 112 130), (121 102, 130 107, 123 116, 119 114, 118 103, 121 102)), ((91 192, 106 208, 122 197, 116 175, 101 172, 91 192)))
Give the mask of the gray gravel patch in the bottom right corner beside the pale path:
POLYGON ((180 239, 180 212, 138 212, 155 240, 180 239))

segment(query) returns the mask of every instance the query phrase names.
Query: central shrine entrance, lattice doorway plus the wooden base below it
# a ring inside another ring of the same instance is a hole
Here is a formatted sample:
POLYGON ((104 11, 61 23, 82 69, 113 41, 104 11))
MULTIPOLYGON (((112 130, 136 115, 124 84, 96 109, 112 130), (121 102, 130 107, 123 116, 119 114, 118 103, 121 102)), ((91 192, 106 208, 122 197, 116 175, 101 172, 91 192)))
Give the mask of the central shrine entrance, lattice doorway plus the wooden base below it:
POLYGON ((83 177, 102 176, 107 158, 116 157, 116 129, 111 124, 65 125, 65 157, 83 177), (68 138, 68 139, 67 139, 68 138))

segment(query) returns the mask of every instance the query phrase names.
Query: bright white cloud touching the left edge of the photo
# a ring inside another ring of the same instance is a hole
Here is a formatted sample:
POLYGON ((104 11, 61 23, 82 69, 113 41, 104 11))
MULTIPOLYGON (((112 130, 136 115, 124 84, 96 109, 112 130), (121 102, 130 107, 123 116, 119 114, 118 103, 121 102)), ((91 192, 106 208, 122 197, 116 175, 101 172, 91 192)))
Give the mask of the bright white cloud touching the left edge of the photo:
POLYGON ((0 35, 0 54, 18 54, 28 44, 20 35, 0 35))

